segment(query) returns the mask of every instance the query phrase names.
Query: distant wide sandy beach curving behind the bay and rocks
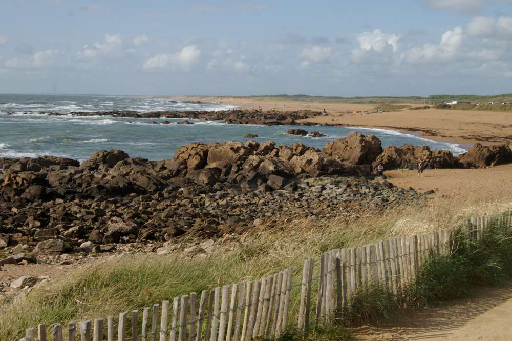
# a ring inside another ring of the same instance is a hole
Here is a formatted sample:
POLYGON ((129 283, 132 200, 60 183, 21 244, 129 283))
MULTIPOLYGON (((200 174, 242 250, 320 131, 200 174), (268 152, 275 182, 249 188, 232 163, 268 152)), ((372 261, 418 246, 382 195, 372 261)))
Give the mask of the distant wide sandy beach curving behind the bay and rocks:
MULTIPOLYGON (((316 110, 329 113, 305 121, 321 124, 393 129, 417 132, 424 137, 461 145, 474 143, 499 144, 512 142, 512 113, 496 111, 467 111, 402 109, 373 112, 377 103, 348 103, 341 100, 312 99, 311 101, 287 98, 181 96, 189 100, 238 105, 244 109, 262 110, 316 110), (335 121, 333 121, 335 118, 335 121)), ((396 104, 396 103, 393 103, 396 104)), ((420 107, 419 103, 404 103, 420 107)))

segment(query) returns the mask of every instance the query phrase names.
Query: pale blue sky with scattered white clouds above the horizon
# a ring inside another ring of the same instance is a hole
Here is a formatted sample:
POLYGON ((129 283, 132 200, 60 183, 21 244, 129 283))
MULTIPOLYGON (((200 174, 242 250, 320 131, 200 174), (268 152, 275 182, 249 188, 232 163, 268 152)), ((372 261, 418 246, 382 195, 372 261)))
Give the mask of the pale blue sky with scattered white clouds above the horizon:
POLYGON ((1 0, 0 93, 512 92, 512 0, 1 0))

